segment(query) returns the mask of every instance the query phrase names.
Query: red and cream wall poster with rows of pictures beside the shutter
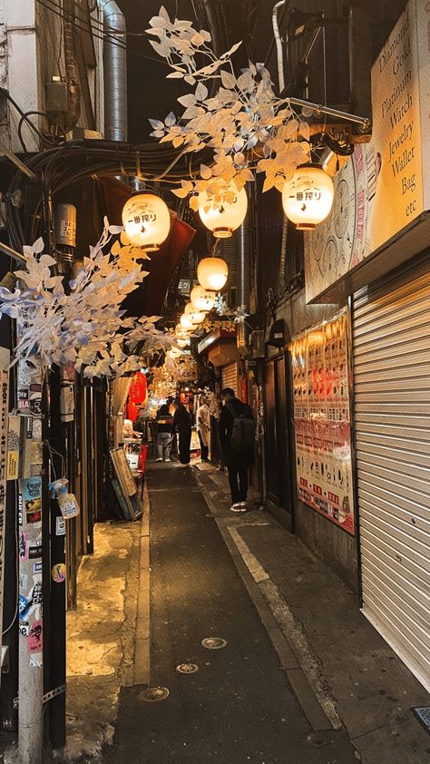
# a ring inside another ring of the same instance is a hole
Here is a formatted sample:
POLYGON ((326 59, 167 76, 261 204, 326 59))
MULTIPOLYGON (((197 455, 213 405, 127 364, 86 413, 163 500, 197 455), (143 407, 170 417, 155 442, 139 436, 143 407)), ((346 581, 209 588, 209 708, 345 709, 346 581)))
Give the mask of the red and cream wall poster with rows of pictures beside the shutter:
POLYGON ((290 351, 298 498, 355 535, 347 332, 344 311, 290 351))

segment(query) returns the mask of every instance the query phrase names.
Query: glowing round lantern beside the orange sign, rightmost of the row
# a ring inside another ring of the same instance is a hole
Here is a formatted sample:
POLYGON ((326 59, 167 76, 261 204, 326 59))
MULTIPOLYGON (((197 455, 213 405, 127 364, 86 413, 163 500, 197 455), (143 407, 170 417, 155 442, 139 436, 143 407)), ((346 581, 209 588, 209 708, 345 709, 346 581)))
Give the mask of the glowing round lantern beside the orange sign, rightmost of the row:
POLYGON ((333 181, 319 164, 299 164, 282 191, 284 212, 298 230, 314 230, 333 205, 333 181))

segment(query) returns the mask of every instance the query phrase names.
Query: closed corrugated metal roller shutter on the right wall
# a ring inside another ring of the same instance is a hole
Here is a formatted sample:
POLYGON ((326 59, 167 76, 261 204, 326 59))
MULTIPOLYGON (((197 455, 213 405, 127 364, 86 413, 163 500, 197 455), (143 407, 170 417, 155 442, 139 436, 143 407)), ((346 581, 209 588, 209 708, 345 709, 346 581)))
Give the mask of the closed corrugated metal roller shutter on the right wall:
POLYGON ((357 293, 353 343, 363 612, 430 690, 430 272, 422 271, 389 292, 357 293))

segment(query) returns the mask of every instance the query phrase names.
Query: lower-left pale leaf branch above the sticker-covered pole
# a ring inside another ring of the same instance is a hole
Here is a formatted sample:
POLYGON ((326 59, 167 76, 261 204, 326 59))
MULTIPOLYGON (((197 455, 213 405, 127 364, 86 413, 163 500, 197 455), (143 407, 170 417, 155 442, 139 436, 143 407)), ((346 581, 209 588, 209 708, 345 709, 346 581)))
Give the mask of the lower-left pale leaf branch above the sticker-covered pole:
POLYGON ((118 241, 109 248, 121 231, 104 219, 102 237, 90 247, 70 289, 64 289, 63 277, 52 276, 55 260, 44 254, 42 239, 24 247, 25 269, 15 271, 24 286, 0 287, 0 314, 16 319, 15 361, 34 364, 37 357, 44 370, 73 363, 85 377, 110 377, 140 367, 132 354, 139 343, 160 349, 175 345, 174 337, 155 327, 159 316, 125 318, 122 301, 148 272, 136 263, 142 250, 118 241))

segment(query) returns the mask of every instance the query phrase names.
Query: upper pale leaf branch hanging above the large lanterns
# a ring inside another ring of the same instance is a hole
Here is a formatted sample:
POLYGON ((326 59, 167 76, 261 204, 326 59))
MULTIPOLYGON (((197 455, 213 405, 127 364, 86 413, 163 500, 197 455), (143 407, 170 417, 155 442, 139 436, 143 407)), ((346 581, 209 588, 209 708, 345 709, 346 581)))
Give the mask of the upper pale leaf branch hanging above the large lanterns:
POLYGON ((185 107, 179 119, 171 112, 164 122, 150 120, 151 135, 181 146, 183 152, 213 150, 213 164, 200 165, 200 179, 182 180, 173 193, 180 198, 191 194, 193 210, 198 209, 200 191, 207 191, 216 203, 230 201, 226 194, 234 196, 231 182, 240 191, 254 180, 254 170, 266 176, 263 191, 273 186, 282 191, 297 165, 309 160, 310 128, 302 119, 309 114, 304 110, 299 115, 288 98, 275 95, 264 66, 249 62, 236 76, 231 56, 240 43, 217 57, 209 32, 197 31, 190 21, 171 22, 164 7, 151 18, 150 27, 147 33, 159 38, 150 41, 152 47, 173 70, 167 77, 197 85, 193 93, 178 98, 185 107), (205 83, 214 79, 220 87, 210 96, 205 83))

